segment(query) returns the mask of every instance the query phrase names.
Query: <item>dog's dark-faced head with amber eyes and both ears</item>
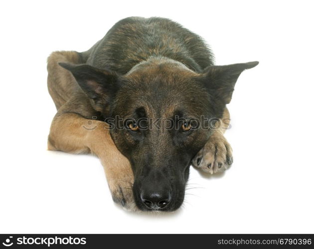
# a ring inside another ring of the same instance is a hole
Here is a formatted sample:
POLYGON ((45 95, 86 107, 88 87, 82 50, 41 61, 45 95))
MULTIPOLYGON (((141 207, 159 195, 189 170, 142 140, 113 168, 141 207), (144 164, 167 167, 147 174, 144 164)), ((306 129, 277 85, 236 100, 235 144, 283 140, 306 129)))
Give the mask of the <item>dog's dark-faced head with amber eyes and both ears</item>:
POLYGON ((182 204, 191 159, 211 135, 212 120, 222 117, 241 72, 257 64, 209 66, 195 73, 159 58, 118 75, 60 63, 95 110, 109 118, 111 136, 133 168, 137 206, 161 211, 182 204))

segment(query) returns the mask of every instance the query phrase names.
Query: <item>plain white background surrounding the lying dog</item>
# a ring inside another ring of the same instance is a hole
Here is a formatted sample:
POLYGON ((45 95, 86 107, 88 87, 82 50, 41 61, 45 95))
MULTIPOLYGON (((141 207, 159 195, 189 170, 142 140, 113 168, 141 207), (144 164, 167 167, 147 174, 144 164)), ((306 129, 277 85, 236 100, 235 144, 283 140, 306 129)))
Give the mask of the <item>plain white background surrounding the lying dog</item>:
POLYGON ((0 233, 314 233, 311 1, 2 1, 0 233), (184 206, 116 206, 99 160, 46 150, 56 113, 46 58, 85 51, 127 16, 171 18, 211 45, 217 64, 258 60, 239 78, 226 132, 234 164, 191 168, 184 206))

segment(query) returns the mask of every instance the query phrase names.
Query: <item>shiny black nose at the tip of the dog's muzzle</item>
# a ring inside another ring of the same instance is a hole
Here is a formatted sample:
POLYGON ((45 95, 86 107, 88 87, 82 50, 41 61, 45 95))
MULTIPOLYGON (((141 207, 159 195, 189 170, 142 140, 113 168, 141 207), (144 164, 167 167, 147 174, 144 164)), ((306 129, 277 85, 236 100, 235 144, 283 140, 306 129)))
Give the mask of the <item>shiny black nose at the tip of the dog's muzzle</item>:
POLYGON ((146 207, 149 209, 163 209, 171 201, 171 192, 170 191, 143 191, 141 190, 141 199, 146 207))

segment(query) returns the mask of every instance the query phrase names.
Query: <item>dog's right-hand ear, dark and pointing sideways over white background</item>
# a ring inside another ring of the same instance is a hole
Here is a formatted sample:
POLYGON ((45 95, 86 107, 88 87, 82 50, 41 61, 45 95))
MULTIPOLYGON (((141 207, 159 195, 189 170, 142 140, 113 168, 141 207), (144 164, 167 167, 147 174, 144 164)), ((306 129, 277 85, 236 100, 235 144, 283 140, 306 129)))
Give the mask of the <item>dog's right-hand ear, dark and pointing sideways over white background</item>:
MULTIPOLYGON (((225 66, 209 66, 204 69, 203 77, 214 105, 224 108, 231 101, 234 85, 245 69, 258 65, 258 61, 238 63, 225 66)), ((223 110, 219 110, 223 112, 223 110)))

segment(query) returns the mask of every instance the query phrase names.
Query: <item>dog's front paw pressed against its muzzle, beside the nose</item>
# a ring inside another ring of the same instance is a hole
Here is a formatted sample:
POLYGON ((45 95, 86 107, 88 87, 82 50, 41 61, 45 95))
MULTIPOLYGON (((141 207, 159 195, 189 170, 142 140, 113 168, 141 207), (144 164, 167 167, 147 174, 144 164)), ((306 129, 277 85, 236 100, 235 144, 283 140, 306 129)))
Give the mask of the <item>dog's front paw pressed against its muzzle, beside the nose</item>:
POLYGON ((132 184, 129 182, 119 181, 109 184, 112 199, 115 203, 121 205, 125 210, 137 211, 133 197, 132 184))

